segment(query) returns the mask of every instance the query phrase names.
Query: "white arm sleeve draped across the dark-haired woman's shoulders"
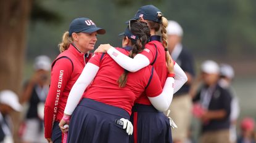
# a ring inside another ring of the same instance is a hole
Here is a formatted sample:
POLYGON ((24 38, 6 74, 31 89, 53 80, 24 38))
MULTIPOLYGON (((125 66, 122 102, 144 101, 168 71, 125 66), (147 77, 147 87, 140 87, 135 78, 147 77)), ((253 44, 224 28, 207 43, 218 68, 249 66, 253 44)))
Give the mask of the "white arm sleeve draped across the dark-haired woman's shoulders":
POLYGON ((119 52, 114 47, 109 48, 107 53, 111 56, 111 58, 113 58, 113 60, 115 60, 115 62, 117 62, 117 64, 130 72, 139 71, 139 69, 148 66, 150 63, 149 59, 142 54, 137 54, 134 56, 134 58, 130 58, 129 56, 119 52))

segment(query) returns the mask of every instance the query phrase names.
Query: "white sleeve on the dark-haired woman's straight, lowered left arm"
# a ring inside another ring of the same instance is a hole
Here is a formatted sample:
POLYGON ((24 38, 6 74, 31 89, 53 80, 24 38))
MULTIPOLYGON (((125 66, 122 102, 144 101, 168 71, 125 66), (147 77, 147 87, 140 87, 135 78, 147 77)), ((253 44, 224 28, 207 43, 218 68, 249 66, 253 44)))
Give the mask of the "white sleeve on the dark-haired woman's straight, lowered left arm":
POLYGON ((85 89, 88 85, 93 81, 94 77, 97 74, 99 67, 92 63, 87 63, 83 72, 76 80, 73 85, 67 99, 67 105, 65 107, 64 113, 68 115, 72 115, 75 107, 83 96, 85 89))

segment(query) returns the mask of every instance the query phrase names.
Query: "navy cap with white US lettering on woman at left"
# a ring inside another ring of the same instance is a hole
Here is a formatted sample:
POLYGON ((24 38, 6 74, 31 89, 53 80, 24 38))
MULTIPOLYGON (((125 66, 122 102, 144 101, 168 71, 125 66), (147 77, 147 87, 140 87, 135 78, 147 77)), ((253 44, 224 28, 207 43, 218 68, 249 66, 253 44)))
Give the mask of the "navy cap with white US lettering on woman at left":
POLYGON ((97 28, 93 20, 89 18, 76 18, 69 25, 69 36, 72 33, 94 33, 97 31, 97 34, 105 34, 105 29, 97 28))

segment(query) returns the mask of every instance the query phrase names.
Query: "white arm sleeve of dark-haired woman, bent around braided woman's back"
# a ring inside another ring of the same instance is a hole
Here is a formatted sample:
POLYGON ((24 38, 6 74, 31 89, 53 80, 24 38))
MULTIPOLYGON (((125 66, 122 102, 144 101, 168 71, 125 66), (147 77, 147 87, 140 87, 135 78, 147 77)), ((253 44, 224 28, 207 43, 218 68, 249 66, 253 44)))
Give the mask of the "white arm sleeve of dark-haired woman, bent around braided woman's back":
POLYGON ((149 97, 149 101, 151 101, 155 109, 161 112, 165 112, 168 109, 173 99, 173 83, 173 77, 167 77, 162 93, 153 98, 149 97))

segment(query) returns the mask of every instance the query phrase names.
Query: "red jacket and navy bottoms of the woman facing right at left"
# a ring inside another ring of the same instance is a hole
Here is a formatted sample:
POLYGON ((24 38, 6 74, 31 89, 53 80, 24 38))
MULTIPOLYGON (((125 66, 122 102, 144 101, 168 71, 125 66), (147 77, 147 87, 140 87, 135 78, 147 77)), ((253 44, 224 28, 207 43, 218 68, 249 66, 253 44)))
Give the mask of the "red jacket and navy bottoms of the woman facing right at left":
POLYGON ((62 142, 59 122, 64 115, 68 94, 91 54, 81 53, 73 44, 52 63, 51 85, 44 107, 44 136, 62 142))

